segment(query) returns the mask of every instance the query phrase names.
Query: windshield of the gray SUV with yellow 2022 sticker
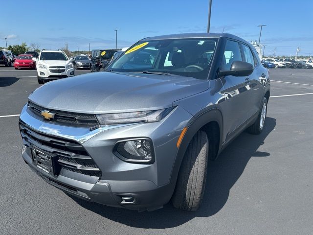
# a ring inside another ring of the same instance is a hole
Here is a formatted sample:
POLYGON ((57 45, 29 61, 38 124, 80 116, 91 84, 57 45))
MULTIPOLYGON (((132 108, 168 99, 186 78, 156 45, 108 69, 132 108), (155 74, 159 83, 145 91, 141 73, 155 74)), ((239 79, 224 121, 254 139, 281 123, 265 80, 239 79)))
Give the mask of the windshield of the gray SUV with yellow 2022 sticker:
POLYGON ((166 72, 207 79, 217 38, 139 42, 106 69, 120 72, 166 72))

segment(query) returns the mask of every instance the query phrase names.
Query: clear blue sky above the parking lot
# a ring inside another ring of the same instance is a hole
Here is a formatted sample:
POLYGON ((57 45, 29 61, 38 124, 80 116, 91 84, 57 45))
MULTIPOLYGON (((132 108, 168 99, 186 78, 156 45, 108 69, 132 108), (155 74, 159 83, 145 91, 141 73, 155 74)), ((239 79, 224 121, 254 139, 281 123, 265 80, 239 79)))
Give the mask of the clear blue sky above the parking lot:
MULTIPOLYGON (((141 38, 205 32, 208 0, 10 0, 1 2, 0 47, 26 42, 70 50, 128 47, 141 38), (58 10, 57 10, 58 9, 58 10)), ((265 54, 313 55, 313 0, 213 0, 211 32, 258 40, 265 54)))

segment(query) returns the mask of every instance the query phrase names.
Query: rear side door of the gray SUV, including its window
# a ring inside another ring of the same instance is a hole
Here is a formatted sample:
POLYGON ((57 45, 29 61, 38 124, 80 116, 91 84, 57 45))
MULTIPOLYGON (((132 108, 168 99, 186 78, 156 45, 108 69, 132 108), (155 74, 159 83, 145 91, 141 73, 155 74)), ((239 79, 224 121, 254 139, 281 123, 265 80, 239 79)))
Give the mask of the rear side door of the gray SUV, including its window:
POLYGON ((267 84, 268 71, 260 66, 255 54, 248 45, 242 44, 242 49, 245 61, 254 67, 253 72, 249 75, 251 80, 250 89, 248 91, 250 103, 247 115, 249 119, 259 113, 260 104, 264 95, 264 87, 267 84))

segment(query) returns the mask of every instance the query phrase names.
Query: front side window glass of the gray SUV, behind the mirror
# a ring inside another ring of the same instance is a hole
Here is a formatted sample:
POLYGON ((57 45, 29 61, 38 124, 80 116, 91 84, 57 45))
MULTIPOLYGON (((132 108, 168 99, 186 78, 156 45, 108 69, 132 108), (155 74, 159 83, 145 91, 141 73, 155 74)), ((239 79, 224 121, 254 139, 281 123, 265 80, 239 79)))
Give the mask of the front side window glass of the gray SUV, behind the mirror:
POLYGON ((221 70, 230 70, 231 64, 237 60, 243 61, 239 43, 227 40, 222 58, 221 70))

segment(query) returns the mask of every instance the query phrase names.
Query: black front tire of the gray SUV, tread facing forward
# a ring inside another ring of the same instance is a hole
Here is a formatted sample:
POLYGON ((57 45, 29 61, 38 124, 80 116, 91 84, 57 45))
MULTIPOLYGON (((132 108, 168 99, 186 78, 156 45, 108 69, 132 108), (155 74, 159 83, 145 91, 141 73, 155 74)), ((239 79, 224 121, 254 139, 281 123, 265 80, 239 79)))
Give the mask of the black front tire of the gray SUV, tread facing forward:
POLYGON ((205 188, 209 141, 204 131, 198 131, 190 141, 182 160, 173 206, 185 211, 197 211, 205 188))

